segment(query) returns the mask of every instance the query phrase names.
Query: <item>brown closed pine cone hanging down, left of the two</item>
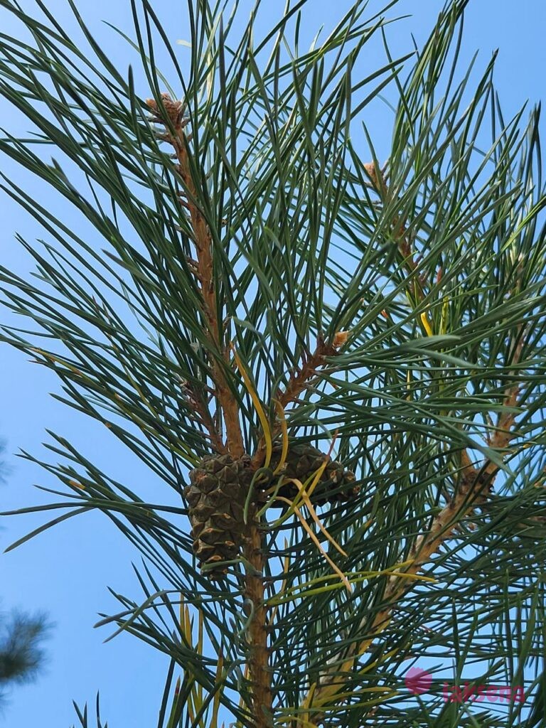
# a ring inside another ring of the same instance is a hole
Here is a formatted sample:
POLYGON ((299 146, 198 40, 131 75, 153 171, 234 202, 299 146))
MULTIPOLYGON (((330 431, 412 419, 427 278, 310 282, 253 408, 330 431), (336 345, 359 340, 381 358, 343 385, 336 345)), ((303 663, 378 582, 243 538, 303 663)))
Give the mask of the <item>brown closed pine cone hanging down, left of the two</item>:
POLYGON ((250 458, 209 455, 189 473, 191 485, 184 490, 189 505, 194 553, 211 579, 227 569, 223 561, 240 554, 245 534, 243 512, 252 480, 250 458), (218 564, 218 566, 216 566, 218 564))

